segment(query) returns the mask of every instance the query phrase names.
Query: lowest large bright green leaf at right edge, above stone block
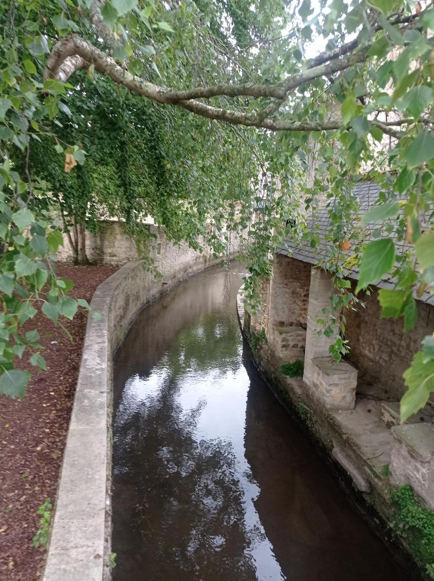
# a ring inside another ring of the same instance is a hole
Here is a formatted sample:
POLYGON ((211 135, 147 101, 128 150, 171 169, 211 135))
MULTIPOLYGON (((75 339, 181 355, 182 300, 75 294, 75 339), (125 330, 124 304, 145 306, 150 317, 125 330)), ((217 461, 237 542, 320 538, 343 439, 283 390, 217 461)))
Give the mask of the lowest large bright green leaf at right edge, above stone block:
POLYGON ((403 376, 408 390, 400 403, 402 424, 425 406, 429 394, 434 390, 434 359, 426 361, 424 353, 419 351, 403 376))

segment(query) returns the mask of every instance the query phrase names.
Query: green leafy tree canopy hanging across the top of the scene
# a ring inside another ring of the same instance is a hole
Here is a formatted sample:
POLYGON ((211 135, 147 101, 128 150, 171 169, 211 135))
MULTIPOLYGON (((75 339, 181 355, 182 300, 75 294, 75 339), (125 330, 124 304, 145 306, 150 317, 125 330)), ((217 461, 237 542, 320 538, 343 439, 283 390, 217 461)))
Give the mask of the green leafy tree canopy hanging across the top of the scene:
MULTIPOLYGON (((237 233, 259 308, 270 253, 288 235, 316 248, 305 216, 328 201, 332 309, 357 302, 351 248, 358 290, 392 275, 382 316, 414 326, 434 283, 431 3, 8 0, 0 18, 3 374, 39 353, 21 328, 37 309, 60 324, 79 306, 56 277, 59 206, 65 227, 108 213, 139 238, 150 214, 216 256, 237 233), (362 222, 360 170, 383 190, 362 222)), ((431 340, 406 372, 403 420, 429 396, 431 340)), ((332 353, 346 349, 337 338, 332 353)), ((12 378, 0 389, 21 395, 27 376, 12 378)))

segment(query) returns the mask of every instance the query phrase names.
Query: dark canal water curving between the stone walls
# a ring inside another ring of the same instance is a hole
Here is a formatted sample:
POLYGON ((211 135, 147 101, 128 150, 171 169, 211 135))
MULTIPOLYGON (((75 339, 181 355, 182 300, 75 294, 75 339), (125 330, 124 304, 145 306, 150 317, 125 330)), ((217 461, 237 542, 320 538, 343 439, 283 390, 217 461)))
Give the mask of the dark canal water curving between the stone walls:
POLYGON ((231 264, 142 310, 115 355, 115 581, 407 579, 256 370, 231 264))

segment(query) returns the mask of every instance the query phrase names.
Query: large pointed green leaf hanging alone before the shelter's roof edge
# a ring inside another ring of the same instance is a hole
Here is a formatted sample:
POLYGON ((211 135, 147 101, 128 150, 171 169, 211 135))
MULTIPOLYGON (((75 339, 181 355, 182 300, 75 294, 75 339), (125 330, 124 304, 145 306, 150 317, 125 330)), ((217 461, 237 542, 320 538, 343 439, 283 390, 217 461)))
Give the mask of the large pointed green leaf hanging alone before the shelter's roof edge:
POLYGON ((395 264, 395 244, 390 238, 375 240, 363 245, 363 256, 360 261, 359 282, 356 293, 365 289, 372 282, 378 281, 395 264))

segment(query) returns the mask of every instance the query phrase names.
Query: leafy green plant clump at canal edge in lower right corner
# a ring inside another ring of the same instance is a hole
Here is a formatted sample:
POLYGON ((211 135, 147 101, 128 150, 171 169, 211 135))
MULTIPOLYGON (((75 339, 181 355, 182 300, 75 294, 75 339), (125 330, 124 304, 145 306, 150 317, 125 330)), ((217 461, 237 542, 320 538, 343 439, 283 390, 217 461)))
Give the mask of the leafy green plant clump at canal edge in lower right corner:
POLYGON ((434 513, 422 507, 411 486, 401 486, 392 493, 397 515, 390 526, 406 539, 411 552, 422 561, 434 579, 434 513))

